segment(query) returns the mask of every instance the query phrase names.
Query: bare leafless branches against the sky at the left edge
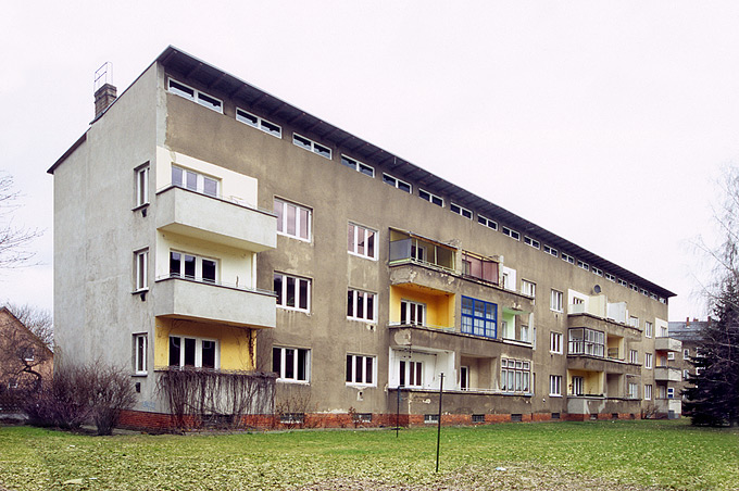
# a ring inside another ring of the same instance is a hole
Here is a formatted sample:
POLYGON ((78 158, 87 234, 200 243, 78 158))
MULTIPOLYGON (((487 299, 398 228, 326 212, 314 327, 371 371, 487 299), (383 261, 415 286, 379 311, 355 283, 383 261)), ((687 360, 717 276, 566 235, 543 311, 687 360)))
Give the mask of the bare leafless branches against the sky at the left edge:
POLYGON ((41 235, 38 229, 13 223, 14 212, 20 206, 20 197, 13 177, 0 171, 0 270, 27 266, 34 256, 28 246, 41 235))

